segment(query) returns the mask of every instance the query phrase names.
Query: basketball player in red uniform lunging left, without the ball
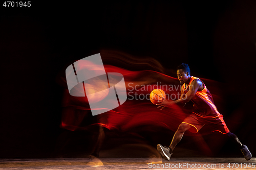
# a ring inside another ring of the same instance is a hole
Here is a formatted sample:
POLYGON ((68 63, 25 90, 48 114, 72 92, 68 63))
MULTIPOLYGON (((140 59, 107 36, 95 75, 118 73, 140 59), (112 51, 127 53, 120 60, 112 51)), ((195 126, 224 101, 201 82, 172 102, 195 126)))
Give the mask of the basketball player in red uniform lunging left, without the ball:
POLYGON ((239 141, 237 135, 229 132, 223 120, 223 115, 218 112, 212 96, 205 84, 199 78, 190 76, 189 66, 184 63, 177 67, 177 76, 180 83, 183 84, 180 99, 176 101, 164 100, 156 105, 159 105, 158 108, 162 107, 162 110, 164 107, 169 107, 174 103, 182 103, 185 105, 191 100, 194 103, 193 112, 189 114, 179 125, 169 147, 163 147, 161 144, 157 145, 157 150, 162 157, 167 160, 170 159, 174 148, 181 140, 185 131, 189 129, 191 132, 197 133, 206 124, 212 128, 212 132, 219 131, 228 135, 238 145, 238 147, 240 147, 244 158, 246 160, 250 160, 250 151, 246 145, 239 141))

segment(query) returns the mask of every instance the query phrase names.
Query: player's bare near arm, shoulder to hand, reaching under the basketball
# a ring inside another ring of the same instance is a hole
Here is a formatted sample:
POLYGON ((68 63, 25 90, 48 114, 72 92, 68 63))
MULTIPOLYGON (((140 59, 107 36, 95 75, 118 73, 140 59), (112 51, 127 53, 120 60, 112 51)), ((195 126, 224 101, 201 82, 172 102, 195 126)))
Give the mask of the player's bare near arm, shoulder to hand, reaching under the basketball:
POLYGON ((185 93, 181 94, 180 99, 178 99, 176 101, 164 100, 161 103, 156 104, 156 105, 158 105, 158 107, 162 107, 161 108, 161 110, 162 110, 164 107, 168 107, 170 105, 173 105, 174 103, 176 103, 176 104, 184 103, 185 104, 185 103, 189 102, 195 96, 198 89, 200 87, 202 88, 202 86, 203 86, 203 83, 200 80, 196 79, 193 82, 191 82, 188 92, 186 94, 185 93))

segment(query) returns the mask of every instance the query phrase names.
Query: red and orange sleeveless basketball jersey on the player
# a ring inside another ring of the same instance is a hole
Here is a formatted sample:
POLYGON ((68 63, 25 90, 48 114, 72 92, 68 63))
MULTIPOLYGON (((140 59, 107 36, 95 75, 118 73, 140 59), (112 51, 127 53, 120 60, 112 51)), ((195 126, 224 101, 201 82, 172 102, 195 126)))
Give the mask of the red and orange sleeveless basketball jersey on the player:
MULTIPOLYGON (((193 76, 190 77, 187 88, 185 88, 185 83, 182 85, 182 90, 184 93, 187 93, 190 88, 193 88, 191 82, 193 82, 195 79, 199 78, 193 76)), ((191 101, 194 103, 193 113, 205 118, 214 118, 220 116, 221 114, 214 104, 210 91, 206 88, 204 82, 202 80, 200 81, 203 83, 204 88, 201 91, 197 91, 195 96, 191 99, 191 101)))

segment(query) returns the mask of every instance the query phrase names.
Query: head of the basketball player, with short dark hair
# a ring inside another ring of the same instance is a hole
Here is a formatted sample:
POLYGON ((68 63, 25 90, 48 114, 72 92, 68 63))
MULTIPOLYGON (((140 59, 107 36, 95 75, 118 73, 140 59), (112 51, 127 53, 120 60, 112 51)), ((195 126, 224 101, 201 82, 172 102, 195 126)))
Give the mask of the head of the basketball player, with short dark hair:
POLYGON ((184 84, 190 78, 190 68, 187 64, 182 63, 177 67, 177 76, 181 84, 184 84))

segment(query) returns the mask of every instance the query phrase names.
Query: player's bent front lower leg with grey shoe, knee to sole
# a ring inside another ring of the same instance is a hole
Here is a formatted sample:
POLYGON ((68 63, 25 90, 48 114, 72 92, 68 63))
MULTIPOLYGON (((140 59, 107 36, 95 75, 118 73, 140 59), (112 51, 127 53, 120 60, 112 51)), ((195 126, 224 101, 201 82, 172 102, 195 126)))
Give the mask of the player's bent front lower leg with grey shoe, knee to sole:
POLYGON ((163 147, 161 144, 157 145, 157 151, 162 155, 164 159, 170 160, 170 156, 173 154, 174 148, 182 139, 185 131, 187 131, 190 127, 191 126, 188 124, 181 123, 178 130, 174 134, 173 140, 170 143, 170 147, 165 147, 165 146, 163 147))

